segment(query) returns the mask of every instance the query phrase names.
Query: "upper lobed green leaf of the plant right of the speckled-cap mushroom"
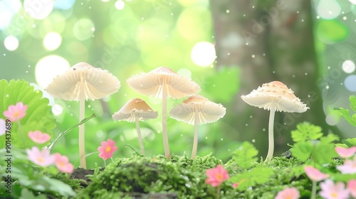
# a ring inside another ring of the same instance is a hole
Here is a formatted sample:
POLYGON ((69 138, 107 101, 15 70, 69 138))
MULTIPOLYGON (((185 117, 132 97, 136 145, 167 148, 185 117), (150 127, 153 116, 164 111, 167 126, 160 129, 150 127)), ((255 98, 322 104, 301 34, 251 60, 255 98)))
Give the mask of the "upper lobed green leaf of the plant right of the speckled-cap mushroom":
POLYGON ((321 127, 315 126, 308 122, 303 122, 297 125, 297 129, 291 131, 294 142, 307 141, 310 139, 319 139, 323 136, 321 127))

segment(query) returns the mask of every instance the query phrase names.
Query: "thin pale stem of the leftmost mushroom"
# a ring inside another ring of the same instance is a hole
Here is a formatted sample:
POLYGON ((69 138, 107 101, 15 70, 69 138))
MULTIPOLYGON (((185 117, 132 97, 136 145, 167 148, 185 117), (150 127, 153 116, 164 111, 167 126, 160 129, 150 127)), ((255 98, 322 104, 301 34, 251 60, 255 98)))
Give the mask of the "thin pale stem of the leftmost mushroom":
MULTIPOLYGON (((79 100, 79 122, 84 119, 85 115, 85 99, 79 100)), ((85 163, 85 141, 84 141, 84 124, 79 126, 79 166, 87 168, 85 163)))

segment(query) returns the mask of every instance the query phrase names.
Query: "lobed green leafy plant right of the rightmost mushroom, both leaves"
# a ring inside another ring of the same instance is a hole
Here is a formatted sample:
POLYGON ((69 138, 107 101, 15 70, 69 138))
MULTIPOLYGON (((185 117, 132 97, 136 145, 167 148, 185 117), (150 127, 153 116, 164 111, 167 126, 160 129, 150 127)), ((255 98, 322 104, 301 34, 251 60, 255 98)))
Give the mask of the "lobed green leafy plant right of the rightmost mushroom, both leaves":
POLYGON ((323 136, 321 128, 307 122, 297 125, 292 131, 293 141, 296 143, 290 152, 300 161, 312 159, 315 163, 331 163, 337 157, 334 141, 339 140, 335 134, 323 136))

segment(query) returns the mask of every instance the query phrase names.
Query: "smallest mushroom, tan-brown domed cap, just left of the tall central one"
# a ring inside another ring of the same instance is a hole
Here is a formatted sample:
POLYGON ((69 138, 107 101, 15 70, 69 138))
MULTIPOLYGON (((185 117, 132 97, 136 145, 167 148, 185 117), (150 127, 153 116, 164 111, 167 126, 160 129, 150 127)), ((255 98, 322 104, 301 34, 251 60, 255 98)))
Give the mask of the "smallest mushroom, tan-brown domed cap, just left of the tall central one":
POLYGON ((157 116, 157 112, 152 110, 151 107, 148 106, 144 100, 140 98, 135 98, 126 102, 126 104, 118 112, 112 114, 112 119, 135 122, 137 129, 137 137, 138 141, 140 142, 141 154, 145 155, 139 121, 155 119, 157 116))

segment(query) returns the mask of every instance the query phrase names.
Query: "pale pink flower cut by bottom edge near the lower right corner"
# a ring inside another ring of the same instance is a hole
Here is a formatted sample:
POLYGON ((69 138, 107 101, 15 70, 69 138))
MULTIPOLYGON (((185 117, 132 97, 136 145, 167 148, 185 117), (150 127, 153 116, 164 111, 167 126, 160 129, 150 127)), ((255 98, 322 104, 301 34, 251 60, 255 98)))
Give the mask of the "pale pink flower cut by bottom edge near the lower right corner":
POLYGON ((334 184, 331 180, 320 183, 321 191, 319 195, 325 199, 347 199, 349 192, 345 189, 344 183, 334 184))

